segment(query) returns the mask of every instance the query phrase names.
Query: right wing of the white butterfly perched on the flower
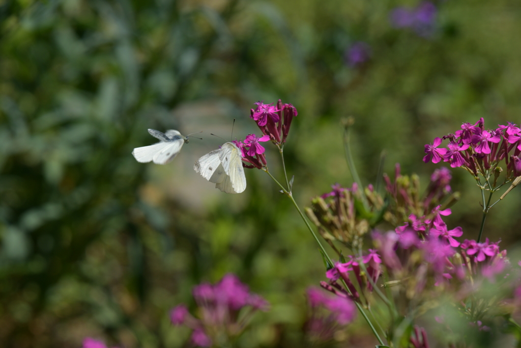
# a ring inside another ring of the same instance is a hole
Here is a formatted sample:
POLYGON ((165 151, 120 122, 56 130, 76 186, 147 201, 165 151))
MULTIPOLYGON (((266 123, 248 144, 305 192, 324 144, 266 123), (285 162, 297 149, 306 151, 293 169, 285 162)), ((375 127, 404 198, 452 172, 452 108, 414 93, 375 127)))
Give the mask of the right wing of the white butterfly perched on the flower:
POLYGON ((222 145, 219 160, 226 173, 226 178, 215 185, 227 194, 239 194, 246 189, 246 176, 242 167, 241 150, 232 142, 222 145))

